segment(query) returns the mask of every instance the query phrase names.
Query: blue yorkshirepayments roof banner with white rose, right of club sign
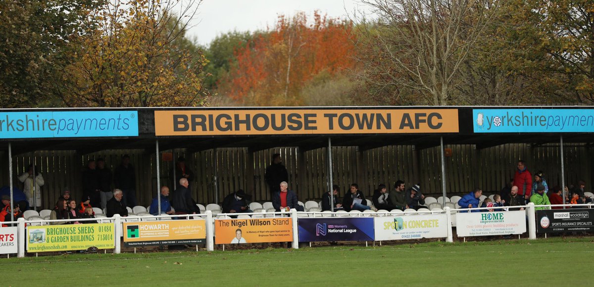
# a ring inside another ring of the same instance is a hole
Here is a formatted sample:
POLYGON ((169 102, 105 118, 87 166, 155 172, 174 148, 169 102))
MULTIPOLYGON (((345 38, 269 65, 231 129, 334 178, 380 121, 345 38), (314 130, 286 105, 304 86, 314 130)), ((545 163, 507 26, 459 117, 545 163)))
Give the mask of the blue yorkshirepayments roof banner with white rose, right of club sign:
POLYGON ((473 109, 475 133, 592 133, 594 109, 473 109))

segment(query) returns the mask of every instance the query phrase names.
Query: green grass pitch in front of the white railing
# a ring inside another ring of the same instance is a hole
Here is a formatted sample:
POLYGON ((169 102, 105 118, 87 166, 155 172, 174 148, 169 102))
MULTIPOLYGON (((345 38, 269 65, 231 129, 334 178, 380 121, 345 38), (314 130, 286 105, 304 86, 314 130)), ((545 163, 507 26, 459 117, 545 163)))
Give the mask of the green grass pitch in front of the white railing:
POLYGON ((12 286, 590 285, 594 238, 2 258, 12 286))

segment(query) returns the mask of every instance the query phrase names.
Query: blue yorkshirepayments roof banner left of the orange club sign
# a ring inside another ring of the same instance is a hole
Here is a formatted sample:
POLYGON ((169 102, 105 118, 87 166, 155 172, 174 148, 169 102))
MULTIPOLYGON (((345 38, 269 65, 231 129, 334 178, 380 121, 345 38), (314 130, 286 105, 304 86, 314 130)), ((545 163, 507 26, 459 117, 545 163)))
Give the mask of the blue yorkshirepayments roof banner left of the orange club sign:
POLYGON ((0 138, 137 136, 137 111, 0 112, 0 138))

